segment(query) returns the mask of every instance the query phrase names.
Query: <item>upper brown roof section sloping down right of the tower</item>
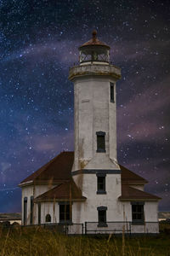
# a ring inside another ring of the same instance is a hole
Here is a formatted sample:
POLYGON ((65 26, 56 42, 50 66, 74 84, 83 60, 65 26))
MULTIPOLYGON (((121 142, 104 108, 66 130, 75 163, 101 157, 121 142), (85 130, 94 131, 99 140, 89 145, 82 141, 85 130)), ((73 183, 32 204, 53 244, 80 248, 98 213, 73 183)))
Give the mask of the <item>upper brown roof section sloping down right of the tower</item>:
POLYGON ((122 183, 148 183, 144 177, 129 171, 126 167, 119 165, 122 170, 122 183))

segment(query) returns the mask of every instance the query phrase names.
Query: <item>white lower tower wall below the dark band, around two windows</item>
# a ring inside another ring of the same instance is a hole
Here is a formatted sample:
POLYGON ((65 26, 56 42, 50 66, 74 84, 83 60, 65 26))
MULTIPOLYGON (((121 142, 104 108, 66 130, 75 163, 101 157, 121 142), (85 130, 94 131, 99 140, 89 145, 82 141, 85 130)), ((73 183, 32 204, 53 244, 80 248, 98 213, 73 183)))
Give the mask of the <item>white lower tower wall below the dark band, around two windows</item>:
POLYGON ((98 222, 97 207, 107 207, 107 221, 122 221, 122 202, 118 201, 121 195, 121 175, 107 174, 105 177, 106 195, 98 195, 96 174, 83 174, 74 176, 77 184, 82 184, 82 195, 87 200, 82 203, 74 203, 74 213, 77 223, 85 221, 98 222), (78 212, 78 214, 77 214, 78 212))

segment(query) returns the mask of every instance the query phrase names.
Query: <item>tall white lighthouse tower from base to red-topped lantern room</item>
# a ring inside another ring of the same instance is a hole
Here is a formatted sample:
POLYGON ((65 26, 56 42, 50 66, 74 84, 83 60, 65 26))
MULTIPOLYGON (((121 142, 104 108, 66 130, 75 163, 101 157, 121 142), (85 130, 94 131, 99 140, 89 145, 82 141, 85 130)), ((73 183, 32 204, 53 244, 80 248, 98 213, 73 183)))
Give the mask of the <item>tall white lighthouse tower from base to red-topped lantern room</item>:
POLYGON ((110 47, 96 34, 79 47, 79 65, 69 74, 75 102, 72 177, 87 198, 77 207, 78 223, 122 220, 117 200, 121 170, 116 160, 116 81, 121 70, 111 65, 110 47))

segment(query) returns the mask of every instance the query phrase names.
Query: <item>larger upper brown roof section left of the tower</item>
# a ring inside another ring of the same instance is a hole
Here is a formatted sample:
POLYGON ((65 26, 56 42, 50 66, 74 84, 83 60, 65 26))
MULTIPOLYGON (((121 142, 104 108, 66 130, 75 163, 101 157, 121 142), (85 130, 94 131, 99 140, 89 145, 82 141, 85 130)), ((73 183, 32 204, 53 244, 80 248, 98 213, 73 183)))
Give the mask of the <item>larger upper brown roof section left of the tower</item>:
POLYGON ((62 152, 42 166, 37 172, 26 177, 20 184, 38 181, 64 181, 71 179, 71 168, 74 160, 74 152, 62 152))

